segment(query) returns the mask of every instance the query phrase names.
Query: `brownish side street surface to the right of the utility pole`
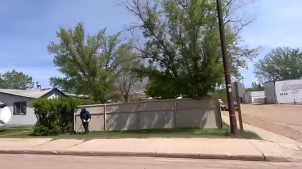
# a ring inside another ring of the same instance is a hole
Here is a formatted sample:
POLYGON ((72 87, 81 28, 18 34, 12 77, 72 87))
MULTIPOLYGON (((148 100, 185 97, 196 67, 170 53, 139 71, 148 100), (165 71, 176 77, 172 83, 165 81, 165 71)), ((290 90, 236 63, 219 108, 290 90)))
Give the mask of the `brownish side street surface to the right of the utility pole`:
POLYGON ((302 105, 241 104, 241 110, 244 123, 302 141, 302 105))

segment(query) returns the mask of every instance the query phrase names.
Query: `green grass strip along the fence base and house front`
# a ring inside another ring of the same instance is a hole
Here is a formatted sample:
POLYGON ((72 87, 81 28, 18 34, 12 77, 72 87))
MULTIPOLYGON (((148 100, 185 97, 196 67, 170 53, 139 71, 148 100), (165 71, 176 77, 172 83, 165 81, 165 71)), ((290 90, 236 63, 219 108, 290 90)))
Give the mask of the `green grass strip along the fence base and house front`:
MULTIPOLYGON (((9 130, 9 129, 8 129, 9 130)), ((13 129, 16 131, 16 129, 13 129)), ((23 130, 24 131, 24 130, 23 130)), ((5 131, 8 133, 9 131, 5 131)), ((12 132, 11 132, 12 133, 12 132)), ((32 132, 20 132, 9 134, 3 137, 35 137, 32 132)), ((206 137, 206 138, 248 138, 260 139, 260 137, 250 131, 239 132, 237 135, 230 133, 229 127, 225 126, 221 129, 201 129, 201 128, 166 128, 166 129, 142 129, 142 130, 128 130, 128 131, 91 131, 89 134, 61 134, 57 136, 49 136, 53 138, 76 138, 76 139, 93 139, 93 138, 151 138, 151 137, 165 137, 165 138, 192 138, 192 137, 206 137)))

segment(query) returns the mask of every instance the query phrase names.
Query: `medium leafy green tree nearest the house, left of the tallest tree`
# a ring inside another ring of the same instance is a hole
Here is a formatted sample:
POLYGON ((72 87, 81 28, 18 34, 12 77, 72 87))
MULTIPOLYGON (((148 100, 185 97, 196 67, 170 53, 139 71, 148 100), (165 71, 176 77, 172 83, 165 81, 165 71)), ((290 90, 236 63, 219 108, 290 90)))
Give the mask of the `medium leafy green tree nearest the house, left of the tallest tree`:
POLYGON ((117 52, 120 34, 106 36, 105 32, 85 35, 81 23, 74 29, 61 28, 57 32, 60 42, 51 42, 48 51, 55 55, 55 66, 65 77, 53 77, 51 84, 64 91, 88 94, 100 102, 116 95, 116 70, 122 62, 117 52))

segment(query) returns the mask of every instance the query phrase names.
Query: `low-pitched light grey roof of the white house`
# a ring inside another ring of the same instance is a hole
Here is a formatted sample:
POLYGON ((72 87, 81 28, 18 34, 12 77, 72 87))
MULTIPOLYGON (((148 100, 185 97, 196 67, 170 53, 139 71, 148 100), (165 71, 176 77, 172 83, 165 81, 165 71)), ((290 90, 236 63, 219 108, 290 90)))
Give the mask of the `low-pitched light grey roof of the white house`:
POLYGON ((45 89, 33 89, 33 90, 18 90, 18 89, 0 88, 0 93, 11 94, 11 95, 16 95, 16 96, 21 96, 21 97, 39 98, 53 90, 60 91, 57 88, 45 88, 45 89))

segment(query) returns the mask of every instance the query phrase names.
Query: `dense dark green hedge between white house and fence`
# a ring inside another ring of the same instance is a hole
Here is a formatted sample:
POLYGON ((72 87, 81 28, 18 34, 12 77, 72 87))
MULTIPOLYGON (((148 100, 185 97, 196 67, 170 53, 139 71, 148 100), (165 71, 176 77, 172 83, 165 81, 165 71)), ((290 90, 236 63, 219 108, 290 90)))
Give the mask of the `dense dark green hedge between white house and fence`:
POLYGON ((33 127, 34 135, 57 135, 71 131, 75 107, 95 103, 89 99, 35 99, 33 107, 37 123, 33 127))

